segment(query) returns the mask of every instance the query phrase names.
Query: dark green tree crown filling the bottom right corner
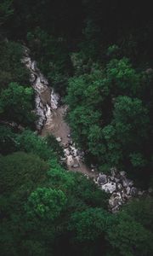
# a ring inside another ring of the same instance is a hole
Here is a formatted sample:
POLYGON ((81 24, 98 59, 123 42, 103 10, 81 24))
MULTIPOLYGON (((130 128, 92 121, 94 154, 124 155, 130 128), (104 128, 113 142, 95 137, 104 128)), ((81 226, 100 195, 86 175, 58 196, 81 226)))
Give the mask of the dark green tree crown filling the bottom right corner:
POLYGON ((123 256, 151 255, 153 236, 137 221, 126 215, 118 215, 118 224, 107 230, 111 246, 123 256))

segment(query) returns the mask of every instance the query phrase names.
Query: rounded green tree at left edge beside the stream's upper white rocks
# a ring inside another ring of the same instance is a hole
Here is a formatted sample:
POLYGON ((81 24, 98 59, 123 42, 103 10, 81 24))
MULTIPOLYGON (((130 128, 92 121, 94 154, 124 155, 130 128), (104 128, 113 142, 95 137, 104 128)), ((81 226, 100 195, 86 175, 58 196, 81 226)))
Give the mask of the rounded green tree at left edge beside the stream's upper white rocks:
POLYGON ((8 89, 3 89, 0 95, 1 117, 20 125, 32 125, 35 120, 35 115, 31 112, 32 98, 31 88, 17 83, 9 84, 8 89))

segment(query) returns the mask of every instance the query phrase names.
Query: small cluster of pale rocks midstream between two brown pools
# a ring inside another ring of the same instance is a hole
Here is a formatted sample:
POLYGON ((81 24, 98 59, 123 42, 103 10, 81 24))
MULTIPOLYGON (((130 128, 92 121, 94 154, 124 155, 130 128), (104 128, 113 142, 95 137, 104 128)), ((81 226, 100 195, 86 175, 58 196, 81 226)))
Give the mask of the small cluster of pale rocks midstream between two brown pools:
MULTIPOLYGON (((76 148, 70 134, 67 137, 69 138, 68 143, 63 144, 65 158, 62 158, 61 160, 65 161, 66 165, 70 168, 78 168, 80 162, 83 161, 84 153, 76 148)), ((57 137, 56 140, 62 144, 62 139, 60 137, 57 137)))

